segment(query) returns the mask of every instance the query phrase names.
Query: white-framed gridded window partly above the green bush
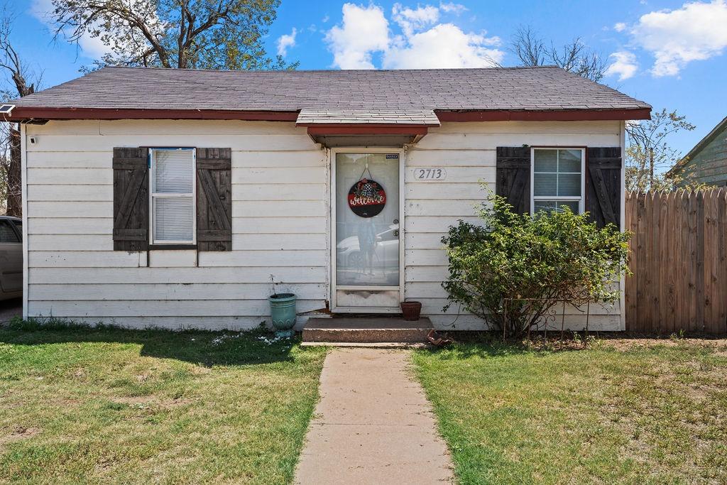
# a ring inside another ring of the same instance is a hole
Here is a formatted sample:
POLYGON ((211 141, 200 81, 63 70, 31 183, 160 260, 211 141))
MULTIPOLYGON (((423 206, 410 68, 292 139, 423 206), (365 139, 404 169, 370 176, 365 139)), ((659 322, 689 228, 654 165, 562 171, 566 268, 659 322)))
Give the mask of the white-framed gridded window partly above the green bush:
POLYGON ((582 148, 534 148, 532 151, 533 213, 583 212, 584 150, 582 148))

